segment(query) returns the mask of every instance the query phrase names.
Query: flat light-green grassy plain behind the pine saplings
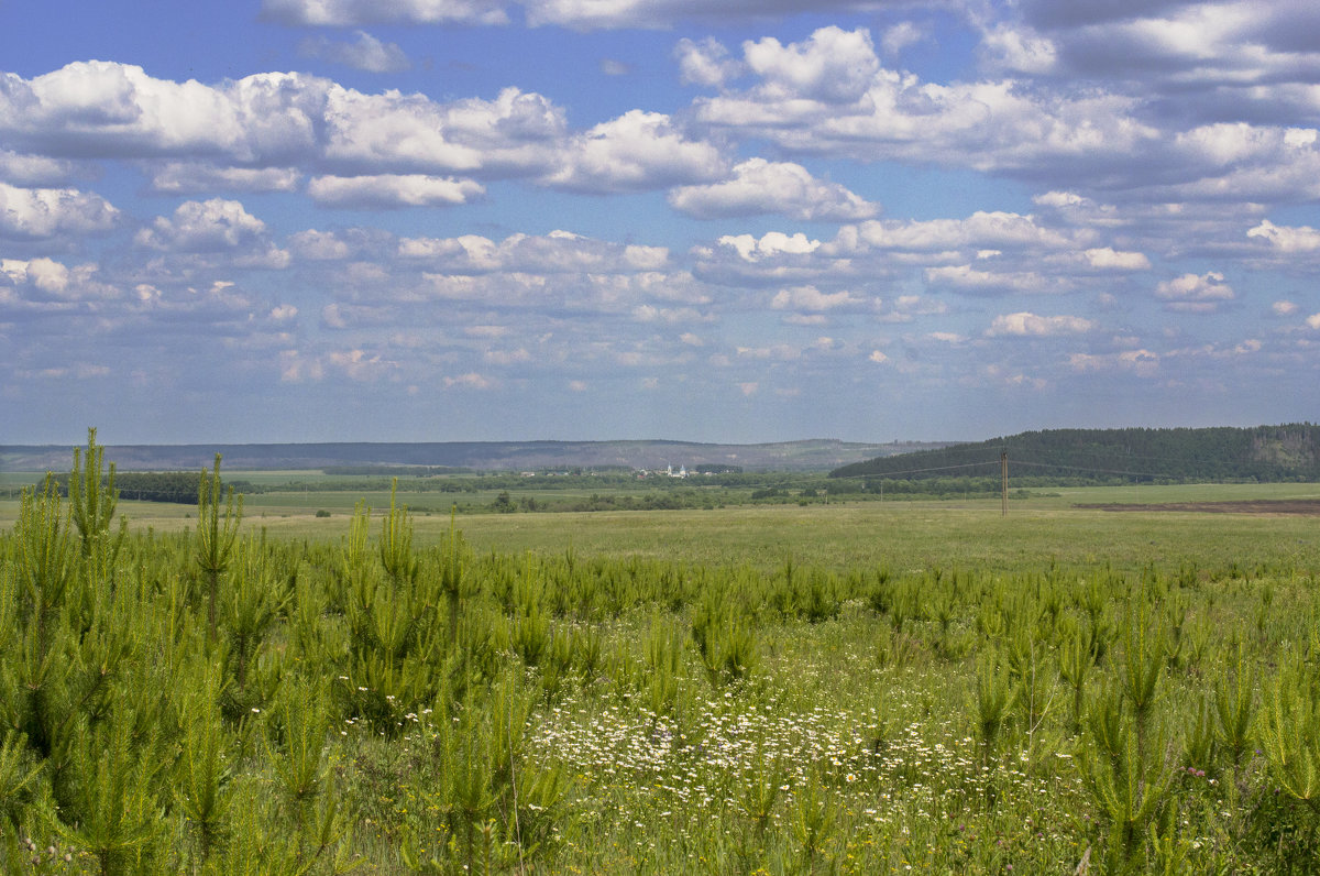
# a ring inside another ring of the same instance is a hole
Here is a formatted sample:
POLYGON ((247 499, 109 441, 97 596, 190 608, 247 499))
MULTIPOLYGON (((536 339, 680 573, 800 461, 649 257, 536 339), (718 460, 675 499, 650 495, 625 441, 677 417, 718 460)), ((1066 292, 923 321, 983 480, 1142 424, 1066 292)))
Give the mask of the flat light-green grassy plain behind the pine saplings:
MULTIPOLYGON (((255 481, 236 472, 236 480, 255 481)), ((302 481, 308 473, 271 476, 268 486, 302 481), (281 481, 282 478, 282 481, 281 481)), ((26 476, 29 482, 32 476, 26 476)), ((1010 501, 1002 517, 998 498, 917 501, 837 501, 799 506, 752 505, 713 510, 457 514, 454 523, 475 550, 532 551, 553 555, 569 546, 583 556, 741 564, 760 569, 787 556, 833 571, 854 567, 892 572, 944 568, 1011 571, 1057 562, 1109 564, 1135 571, 1147 564, 1192 563, 1225 567, 1269 555, 1320 567, 1320 521, 1261 514, 1192 511, 1113 513, 1078 509, 1084 503, 1167 503, 1243 499, 1320 498, 1316 484, 1187 484, 1142 486, 1048 488, 1010 501)), ((531 493, 529 493, 531 494, 531 493)), ((447 538, 447 494, 400 493, 414 510, 418 546, 447 538), (413 501, 416 499, 416 501, 413 501)), ((544 495, 544 493, 541 493, 544 495)), ((482 495, 478 501, 486 499, 482 495)), ((490 495, 494 499, 494 493, 490 495)), ((339 540, 348 532, 355 502, 379 515, 388 492, 280 492, 244 497, 247 526, 285 539, 339 540), (330 517, 315 517, 326 510, 330 517)), ((466 495, 463 501, 471 501, 466 495)), ((181 532, 195 525, 197 509, 158 502, 120 502, 133 530, 181 532)), ((11 526, 17 501, 0 501, 0 526, 11 526)))

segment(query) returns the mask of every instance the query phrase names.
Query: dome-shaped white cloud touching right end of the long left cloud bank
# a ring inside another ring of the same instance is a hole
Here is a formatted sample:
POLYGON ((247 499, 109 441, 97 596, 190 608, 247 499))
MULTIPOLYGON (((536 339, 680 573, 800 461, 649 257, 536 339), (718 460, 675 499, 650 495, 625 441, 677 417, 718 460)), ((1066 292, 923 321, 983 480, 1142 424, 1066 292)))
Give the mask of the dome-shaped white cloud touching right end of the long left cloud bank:
POLYGON ((668 115, 630 110, 577 135, 545 185, 586 193, 642 192, 719 178, 725 159, 710 143, 689 140, 668 115))

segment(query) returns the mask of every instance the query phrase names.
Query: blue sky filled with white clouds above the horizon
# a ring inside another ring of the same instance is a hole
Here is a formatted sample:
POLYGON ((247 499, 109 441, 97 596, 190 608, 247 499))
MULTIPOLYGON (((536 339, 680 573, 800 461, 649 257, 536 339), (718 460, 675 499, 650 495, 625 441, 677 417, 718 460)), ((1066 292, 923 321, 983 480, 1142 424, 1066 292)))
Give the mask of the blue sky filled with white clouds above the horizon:
POLYGON ((1313 0, 0 0, 0 444, 1320 407, 1313 0))

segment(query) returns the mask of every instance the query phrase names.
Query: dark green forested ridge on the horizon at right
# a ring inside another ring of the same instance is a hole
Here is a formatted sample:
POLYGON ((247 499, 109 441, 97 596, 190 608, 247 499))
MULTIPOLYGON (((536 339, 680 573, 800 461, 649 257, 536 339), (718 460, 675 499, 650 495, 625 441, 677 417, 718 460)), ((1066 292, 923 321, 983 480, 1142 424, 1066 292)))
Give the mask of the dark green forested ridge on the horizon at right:
POLYGON ((1312 423, 1022 432, 876 457, 834 469, 830 477, 998 477, 1001 453, 1008 455, 1018 482, 1320 481, 1320 425, 1312 423))

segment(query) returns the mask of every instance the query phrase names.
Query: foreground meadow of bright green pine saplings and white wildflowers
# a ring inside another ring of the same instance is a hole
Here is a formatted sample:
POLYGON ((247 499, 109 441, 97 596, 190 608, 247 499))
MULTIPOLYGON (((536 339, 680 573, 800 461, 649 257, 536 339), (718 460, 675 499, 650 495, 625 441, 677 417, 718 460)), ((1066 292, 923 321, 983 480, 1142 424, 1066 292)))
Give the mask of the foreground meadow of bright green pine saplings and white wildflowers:
POLYGON ((92 432, 0 536, 5 872, 1320 868, 1309 571, 273 540, 198 485, 129 534, 92 432))

